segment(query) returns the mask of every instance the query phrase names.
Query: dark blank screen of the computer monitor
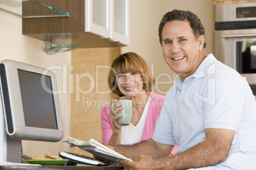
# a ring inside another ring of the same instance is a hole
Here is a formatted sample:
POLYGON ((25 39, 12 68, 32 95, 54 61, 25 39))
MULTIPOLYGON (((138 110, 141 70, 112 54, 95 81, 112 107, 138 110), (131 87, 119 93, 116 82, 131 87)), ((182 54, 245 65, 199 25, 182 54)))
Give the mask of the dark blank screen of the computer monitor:
POLYGON ((50 76, 18 69, 25 126, 57 129, 54 96, 46 93, 41 79, 45 80, 46 88, 52 91, 50 76))

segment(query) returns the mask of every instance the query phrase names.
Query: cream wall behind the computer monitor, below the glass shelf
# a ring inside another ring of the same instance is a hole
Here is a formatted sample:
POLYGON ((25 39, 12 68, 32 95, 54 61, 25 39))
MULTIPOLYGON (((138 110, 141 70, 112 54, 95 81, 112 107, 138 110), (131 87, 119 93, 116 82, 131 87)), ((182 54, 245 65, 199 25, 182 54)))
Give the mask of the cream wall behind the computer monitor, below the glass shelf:
MULTIPOLYGON (((16 60, 39 67, 61 66, 69 68, 71 65, 71 52, 46 55, 45 42, 22 35, 22 18, 0 11, 0 61, 4 59, 16 60)), ((64 123, 64 138, 70 135, 71 95, 65 91, 69 88, 66 77, 69 69, 53 69, 57 85, 64 93, 59 95, 64 123)), ((3 121, 3 120, 0 120, 3 121)), ((38 154, 59 154, 59 151, 69 150, 69 145, 52 142, 22 141, 24 154, 33 156, 38 154)))

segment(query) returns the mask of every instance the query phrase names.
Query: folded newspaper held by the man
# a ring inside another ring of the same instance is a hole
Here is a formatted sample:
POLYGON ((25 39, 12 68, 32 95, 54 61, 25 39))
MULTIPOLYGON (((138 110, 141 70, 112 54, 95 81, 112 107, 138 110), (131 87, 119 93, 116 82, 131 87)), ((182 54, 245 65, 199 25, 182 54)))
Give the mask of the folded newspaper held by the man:
MULTIPOLYGON (((98 141, 94 139, 90 139, 89 141, 82 141, 78 140, 76 138, 71 138, 68 136, 69 140, 64 140, 64 142, 71 144, 70 148, 72 147, 79 147, 82 150, 85 150, 86 152, 89 152, 90 154, 97 155, 98 157, 102 157, 104 159, 111 160, 113 162, 117 162, 117 159, 124 159, 124 160, 130 160, 124 155, 118 154, 114 150, 111 150, 111 148, 108 148, 98 141)), ((133 161, 132 161, 133 162, 133 161)))

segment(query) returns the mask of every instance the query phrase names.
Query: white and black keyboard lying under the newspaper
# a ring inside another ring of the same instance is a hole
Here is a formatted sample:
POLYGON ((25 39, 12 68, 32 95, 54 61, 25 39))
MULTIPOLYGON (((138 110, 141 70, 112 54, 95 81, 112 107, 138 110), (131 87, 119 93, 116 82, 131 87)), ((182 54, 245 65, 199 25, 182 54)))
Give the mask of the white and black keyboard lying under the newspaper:
POLYGON ((86 164, 90 166, 106 166, 106 164, 101 160, 71 152, 59 152, 59 157, 62 157, 63 159, 69 159, 69 161, 66 162, 64 166, 76 166, 76 164, 86 164))

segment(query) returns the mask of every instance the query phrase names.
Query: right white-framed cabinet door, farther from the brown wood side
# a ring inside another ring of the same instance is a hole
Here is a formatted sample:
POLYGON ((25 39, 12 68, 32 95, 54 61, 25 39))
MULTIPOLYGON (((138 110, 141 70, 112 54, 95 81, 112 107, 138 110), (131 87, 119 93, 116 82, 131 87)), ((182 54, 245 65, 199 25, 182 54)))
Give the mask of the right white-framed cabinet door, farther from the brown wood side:
POLYGON ((111 41, 129 46, 129 0, 111 1, 111 41))

